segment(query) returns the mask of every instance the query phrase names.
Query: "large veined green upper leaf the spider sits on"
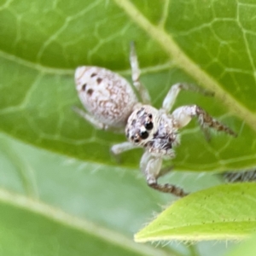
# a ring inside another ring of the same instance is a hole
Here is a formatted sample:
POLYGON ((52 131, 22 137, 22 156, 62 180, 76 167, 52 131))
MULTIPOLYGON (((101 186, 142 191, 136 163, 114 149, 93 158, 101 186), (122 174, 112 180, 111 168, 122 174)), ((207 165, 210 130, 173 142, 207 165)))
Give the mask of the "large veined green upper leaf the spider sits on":
MULTIPOLYGON (((201 84, 215 97, 183 92, 177 105, 199 104, 239 134, 236 139, 214 134, 207 143, 198 126, 189 125, 176 168, 255 166, 256 146, 249 143, 256 131, 256 26, 250 23, 255 11, 228 0, 211 8, 201 1, 6 1, 0 8, 0 130, 40 148, 116 165, 109 147, 125 136, 96 131, 73 113, 72 107, 81 105, 73 73, 79 65, 95 65, 129 78, 134 40, 154 106, 160 107, 174 83, 201 84)), ((140 156, 138 150, 126 153, 122 164, 137 167, 140 156)))

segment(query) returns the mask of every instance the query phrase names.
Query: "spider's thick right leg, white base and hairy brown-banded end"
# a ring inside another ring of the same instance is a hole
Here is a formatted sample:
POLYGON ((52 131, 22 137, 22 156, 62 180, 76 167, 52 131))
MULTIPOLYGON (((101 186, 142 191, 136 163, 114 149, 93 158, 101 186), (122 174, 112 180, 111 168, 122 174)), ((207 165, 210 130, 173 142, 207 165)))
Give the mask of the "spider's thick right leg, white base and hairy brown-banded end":
POLYGON ((188 125, 190 120, 193 117, 196 117, 199 121, 199 124, 201 125, 202 130, 206 133, 207 137, 208 134, 206 129, 208 127, 211 127, 216 131, 224 131, 236 137, 236 132, 232 131, 229 127, 218 122, 217 119, 213 119, 205 110, 196 105, 189 105, 177 108, 172 112, 172 117, 175 121, 174 123, 177 129, 185 125, 188 125))

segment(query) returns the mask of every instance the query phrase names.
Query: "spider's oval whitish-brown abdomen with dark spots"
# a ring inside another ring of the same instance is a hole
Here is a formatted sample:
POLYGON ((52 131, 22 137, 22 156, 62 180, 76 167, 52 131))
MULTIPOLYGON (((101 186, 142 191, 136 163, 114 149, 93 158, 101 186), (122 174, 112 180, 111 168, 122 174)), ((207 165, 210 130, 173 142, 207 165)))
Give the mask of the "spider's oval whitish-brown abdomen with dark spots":
POLYGON ((137 103, 131 84, 117 73, 102 67, 78 67, 76 89, 86 110, 104 125, 125 126, 137 103))

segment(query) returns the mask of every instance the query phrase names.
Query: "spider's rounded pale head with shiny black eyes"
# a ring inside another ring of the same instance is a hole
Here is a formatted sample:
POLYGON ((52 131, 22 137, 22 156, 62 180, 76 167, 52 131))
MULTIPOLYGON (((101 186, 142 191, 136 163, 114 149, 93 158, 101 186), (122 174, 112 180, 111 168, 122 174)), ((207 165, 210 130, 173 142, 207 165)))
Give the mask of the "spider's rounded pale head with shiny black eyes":
POLYGON ((154 138, 157 130, 158 110, 143 105, 131 113, 125 128, 126 137, 131 143, 144 146, 154 138))

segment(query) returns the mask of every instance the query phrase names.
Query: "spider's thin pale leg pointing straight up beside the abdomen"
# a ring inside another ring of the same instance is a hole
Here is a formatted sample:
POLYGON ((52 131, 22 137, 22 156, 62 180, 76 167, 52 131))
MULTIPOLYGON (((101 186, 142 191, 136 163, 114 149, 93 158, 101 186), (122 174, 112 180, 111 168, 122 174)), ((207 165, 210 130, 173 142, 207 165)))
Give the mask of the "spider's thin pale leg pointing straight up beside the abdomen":
POLYGON ((134 42, 131 42, 131 53, 130 53, 130 63, 131 63, 131 79, 134 87, 138 91, 139 95, 142 97, 144 104, 150 104, 150 96, 148 90, 140 82, 140 68, 137 61, 137 54, 135 50, 134 42))

